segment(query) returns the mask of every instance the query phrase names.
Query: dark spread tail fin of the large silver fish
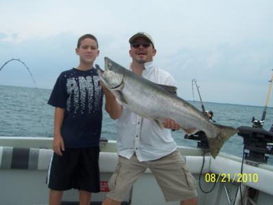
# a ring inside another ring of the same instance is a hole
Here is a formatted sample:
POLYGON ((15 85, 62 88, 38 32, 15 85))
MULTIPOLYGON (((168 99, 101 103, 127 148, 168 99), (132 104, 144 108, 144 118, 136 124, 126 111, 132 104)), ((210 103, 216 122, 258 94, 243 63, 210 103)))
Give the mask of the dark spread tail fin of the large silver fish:
POLYGON ((222 147, 224 142, 228 140, 229 137, 238 132, 236 128, 233 128, 231 126, 223 126, 220 124, 215 124, 215 126, 220 129, 218 135, 213 138, 207 138, 207 141, 209 142, 209 149, 213 159, 216 159, 216 156, 219 154, 220 148, 222 147))

